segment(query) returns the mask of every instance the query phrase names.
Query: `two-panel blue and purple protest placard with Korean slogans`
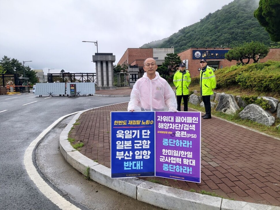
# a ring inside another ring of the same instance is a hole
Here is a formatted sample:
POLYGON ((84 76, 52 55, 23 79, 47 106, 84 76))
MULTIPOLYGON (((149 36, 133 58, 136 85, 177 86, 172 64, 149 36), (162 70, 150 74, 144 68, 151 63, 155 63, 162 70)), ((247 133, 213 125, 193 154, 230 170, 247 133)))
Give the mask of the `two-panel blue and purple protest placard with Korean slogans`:
POLYGON ((200 112, 111 112, 111 177, 200 183, 200 112))

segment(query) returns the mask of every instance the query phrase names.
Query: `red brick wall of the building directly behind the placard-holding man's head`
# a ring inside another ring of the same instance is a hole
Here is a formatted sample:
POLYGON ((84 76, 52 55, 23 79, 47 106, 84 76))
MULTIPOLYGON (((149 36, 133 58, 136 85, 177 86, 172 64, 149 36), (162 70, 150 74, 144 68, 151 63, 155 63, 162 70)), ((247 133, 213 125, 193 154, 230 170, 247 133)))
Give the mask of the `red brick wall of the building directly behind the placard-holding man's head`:
MULTIPOLYGON (((153 57, 153 48, 128 48, 117 64, 138 64, 136 60, 146 60, 153 57)), ((141 63, 141 62, 140 62, 141 63)), ((139 65, 139 64, 138 64, 139 65)))

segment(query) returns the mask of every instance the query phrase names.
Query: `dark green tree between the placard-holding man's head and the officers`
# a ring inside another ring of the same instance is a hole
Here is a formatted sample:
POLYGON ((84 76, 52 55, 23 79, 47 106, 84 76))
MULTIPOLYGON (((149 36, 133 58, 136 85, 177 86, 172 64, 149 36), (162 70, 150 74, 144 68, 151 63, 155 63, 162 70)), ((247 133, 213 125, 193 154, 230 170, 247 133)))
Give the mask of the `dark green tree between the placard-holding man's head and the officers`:
POLYGON ((169 75, 173 69, 179 67, 181 62, 182 60, 180 59, 180 56, 177 55, 177 53, 167 53, 164 57, 162 66, 158 67, 158 73, 162 74, 163 78, 165 78, 165 76, 169 75))

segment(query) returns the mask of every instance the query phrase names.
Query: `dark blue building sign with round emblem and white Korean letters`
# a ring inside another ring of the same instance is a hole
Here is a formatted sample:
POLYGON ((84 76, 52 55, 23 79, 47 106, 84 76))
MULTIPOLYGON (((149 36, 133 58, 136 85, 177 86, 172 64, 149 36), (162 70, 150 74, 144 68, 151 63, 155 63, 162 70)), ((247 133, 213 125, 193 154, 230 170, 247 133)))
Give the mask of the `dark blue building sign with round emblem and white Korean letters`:
POLYGON ((193 59, 225 59, 228 50, 193 50, 193 59))

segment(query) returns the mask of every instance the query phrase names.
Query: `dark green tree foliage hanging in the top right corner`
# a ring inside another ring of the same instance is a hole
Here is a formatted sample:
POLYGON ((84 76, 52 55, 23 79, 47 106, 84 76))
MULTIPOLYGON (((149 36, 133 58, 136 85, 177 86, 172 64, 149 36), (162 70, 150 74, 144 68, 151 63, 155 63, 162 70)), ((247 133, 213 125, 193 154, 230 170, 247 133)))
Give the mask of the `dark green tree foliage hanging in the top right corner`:
POLYGON ((255 10, 254 16, 260 25, 266 29, 270 39, 274 42, 280 41, 280 1, 260 0, 259 8, 255 10))

